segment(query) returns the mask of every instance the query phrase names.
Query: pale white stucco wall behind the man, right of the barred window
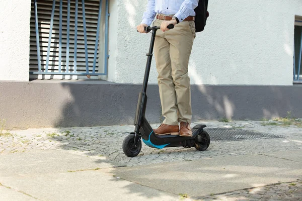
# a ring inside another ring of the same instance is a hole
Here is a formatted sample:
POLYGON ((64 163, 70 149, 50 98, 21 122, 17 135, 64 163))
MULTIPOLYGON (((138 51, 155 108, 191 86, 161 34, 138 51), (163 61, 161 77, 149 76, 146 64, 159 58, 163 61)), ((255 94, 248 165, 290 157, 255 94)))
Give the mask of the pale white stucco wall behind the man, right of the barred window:
MULTIPOLYGON (((141 83, 150 34, 138 34, 147 1, 114 0, 117 44, 112 81, 141 83)), ((294 16, 300 0, 210 0, 205 31, 197 33, 189 64, 192 84, 292 85, 294 16)), ((155 61, 155 60, 153 60, 155 61)), ((110 65, 109 65, 110 70, 110 65)), ((157 83, 155 62, 149 77, 157 83)))

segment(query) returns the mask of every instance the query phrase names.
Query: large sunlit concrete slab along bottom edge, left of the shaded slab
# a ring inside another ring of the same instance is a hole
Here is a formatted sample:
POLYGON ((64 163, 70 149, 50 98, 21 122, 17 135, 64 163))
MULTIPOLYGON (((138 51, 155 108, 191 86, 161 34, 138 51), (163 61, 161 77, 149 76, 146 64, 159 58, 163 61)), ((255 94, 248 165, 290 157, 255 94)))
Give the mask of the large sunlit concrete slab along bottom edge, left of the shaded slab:
POLYGON ((98 170, 5 177, 1 182, 41 200, 179 200, 178 195, 98 170))

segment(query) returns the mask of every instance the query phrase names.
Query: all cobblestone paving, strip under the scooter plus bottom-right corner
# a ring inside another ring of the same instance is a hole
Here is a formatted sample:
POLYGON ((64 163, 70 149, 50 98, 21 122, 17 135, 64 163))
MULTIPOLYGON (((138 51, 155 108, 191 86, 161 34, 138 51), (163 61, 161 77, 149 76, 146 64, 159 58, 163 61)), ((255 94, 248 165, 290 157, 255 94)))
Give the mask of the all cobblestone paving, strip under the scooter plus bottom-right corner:
MULTIPOLYGON (((122 151, 122 142, 127 134, 133 132, 134 126, 108 127, 73 127, 45 128, 10 131, 0 135, 0 155, 27 152, 31 150, 61 149, 73 154, 87 156, 106 156, 121 166, 135 166, 168 161, 195 160, 215 156, 261 154, 282 150, 302 149, 302 124, 289 125, 280 121, 234 121, 234 122, 195 122, 206 124, 207 128, 240 128, 267 134, 276 134, 284 138, 244 140, 231 142, 211 142, 207 151, 196 151, 195 148, 152 149, 142 145, 137 157, 128 158, 122 151)), ((154 128, 159 125, 152 125, 154 128)), ((209 133, 210 134, 210 133, 209 133)), ((302 200, 301 180, 296 185, 279 184, 253 190, 240 190, 223 195, 222 200, 302 200), (261 194, 263 193, 263 194, 261 194), (300 194, 300 199, 296 199, 300 194), (262 196, 263 195, 263 196, 262 196), (264 196, 265 195, 265 196, 264 196), (272 195, 272 197, 267 197, 272 195), (283 197, 282 197, 283 196, 283 197), (286 198, 284 198, 286 197, 286 198), (283 199, 284 198, 284 199, 283 199)), ((215 196, 216 197, 216 196, 215 196)), ((211 200, 215 197, 207 197, 211 200)))

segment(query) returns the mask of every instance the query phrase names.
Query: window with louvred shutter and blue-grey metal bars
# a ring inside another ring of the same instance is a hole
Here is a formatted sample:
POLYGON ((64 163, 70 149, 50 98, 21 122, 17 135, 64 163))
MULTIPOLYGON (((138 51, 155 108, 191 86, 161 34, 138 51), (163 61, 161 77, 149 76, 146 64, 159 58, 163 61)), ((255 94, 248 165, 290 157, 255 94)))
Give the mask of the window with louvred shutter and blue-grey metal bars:
POLYGON ((97 79, 98 75, 105 75, 108 15, 102 10, 108 14, 108 2, 32 0, 30 78, 61 79, 74 75, 72 78, 97 79), (105 29, 100 30, 101 27, 105 29), (105 72, 100 61, 105 63, 105 72))

